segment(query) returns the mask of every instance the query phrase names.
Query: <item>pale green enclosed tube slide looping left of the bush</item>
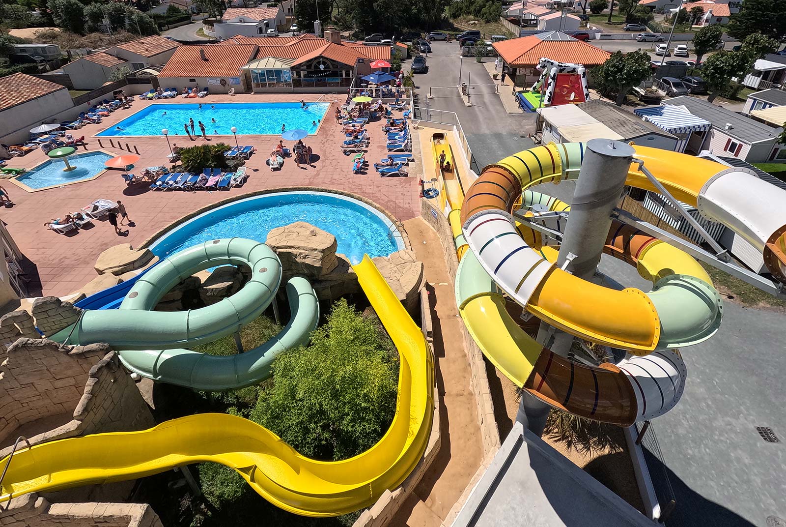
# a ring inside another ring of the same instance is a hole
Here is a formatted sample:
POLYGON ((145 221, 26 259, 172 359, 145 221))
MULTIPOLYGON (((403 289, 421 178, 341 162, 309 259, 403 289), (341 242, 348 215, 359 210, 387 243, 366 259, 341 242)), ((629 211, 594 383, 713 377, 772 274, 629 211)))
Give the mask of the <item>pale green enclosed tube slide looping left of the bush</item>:
POLYGON ((286 292, 292 316, 283 330, 263 345, 233 356, 210 356, 182 349, 240 331, 274 300, 281 283, 281 262, 258 241, 228 238, 185 249, 141 275, 117 310, 84 311, 72 326, 53 335, 69 344, 107 342, 131 371, 193 389, 237 389, 270 376, 278 353, 305 344, 317 327, 319 303, 306 278, 293 277, 286 292), (183 278, 226 264, 252 270, 244 287, 216 304, 189 311, 152 311, 183 278))

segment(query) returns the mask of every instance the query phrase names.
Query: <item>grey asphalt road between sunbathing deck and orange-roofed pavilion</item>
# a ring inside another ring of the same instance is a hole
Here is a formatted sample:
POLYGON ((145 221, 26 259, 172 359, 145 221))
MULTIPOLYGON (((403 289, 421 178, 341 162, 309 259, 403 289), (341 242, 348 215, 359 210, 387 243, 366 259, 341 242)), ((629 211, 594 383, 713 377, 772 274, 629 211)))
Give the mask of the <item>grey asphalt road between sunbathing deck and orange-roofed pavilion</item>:
MULTIPOLYGON (((530 148, 527 137, 534 127, 534 114, 509 114, 502 106, 495 86, 474 57, 460 57, 456 42, 432 42, 433 53, 428 54, 428 73, 415 76, 420 105, 428 102, 429 109, 455 112, 464 128, 476 171, 510 153, 530 148), (459 97, 457 85, 470 83, 472 106, 467 107, 459 97), (431 89, 434 98, 428 99, 431 89), (523 136, 523 137, 522 137, 523 136)), ((483 61, 494 61, 484 58, 483 61)), ((404 68, 409 68, 406 63, 404 68)))

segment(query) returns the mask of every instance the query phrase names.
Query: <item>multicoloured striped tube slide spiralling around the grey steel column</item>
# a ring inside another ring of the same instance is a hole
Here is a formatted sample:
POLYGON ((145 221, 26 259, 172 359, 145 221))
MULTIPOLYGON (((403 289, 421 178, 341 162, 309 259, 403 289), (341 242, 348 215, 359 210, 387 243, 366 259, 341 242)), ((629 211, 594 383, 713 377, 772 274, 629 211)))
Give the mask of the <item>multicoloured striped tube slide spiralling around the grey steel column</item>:
MULTIPOLYGON (((484 354, 517 385, 575 415, 630 425, 662 415, 676 404, 685 364, 673 348, 711 337, 718 329, 722 306, 696 260, 622 224, 612 227, 604 250, 636 265, 644 278, 651 279, 650 293, 615 291, 579 280, 553 266, 554 249, 534 250, 523 241, 508 213, 522 187, 575 179, 583 148, 574 143, 526 150, 490 165, 473 183, 462 207, 470 252, 459 268, 457 301, 484 354), (568 333, 641 356, 601 367, 556 356, 516 325, 505 310, 503 294, 568 333)), ((683 154, 634 148, 678 199, 703 203, 700 210, 705 216, 725 219, 751 242, 758 240, 762 252, 769 250, 773 275, 782 271, 779 251, 786 218, 775 205, 783 202, 786 193, 744 171, 725 170, 683 154), (685 173, 674 174, 677 168, 685 173), (721 190, 713 189, 724 178, 721 190), (766 189, 758 188, 762 185, 766 189), (736 192, 730 192, 730 186, 736 192), (751 187, 766 191, 748 192, 751 187)), ((654 190, 633 165, 627 184, 654 190)), ((525 193, 527 200, 551 205, 552 210, 567 206, 538 193, 525 193)))

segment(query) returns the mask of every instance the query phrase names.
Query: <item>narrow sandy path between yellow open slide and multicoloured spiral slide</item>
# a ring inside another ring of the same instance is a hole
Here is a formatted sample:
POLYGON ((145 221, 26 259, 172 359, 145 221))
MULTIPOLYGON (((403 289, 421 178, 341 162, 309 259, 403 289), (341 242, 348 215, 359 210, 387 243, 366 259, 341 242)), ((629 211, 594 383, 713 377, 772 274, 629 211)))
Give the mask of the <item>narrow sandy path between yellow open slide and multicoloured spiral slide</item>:
POLYGON ((483 458, 475 396, 461 344, 453 286, 436 233, 420 217, 404 222, 417 259, 424 262, 434 323, 441 446, 434 463, 390 525, 437 526, 464 492, 483 458), (424 243, 425 242, 425 243, 424 243))

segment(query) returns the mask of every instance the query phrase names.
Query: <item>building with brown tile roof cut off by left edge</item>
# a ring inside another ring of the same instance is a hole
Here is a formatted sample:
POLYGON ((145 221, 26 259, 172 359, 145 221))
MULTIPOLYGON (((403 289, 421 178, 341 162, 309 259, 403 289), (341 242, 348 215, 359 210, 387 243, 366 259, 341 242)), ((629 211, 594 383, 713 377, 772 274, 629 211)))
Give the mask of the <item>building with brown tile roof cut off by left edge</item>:
POLYGON ((24 73, 0 77, 0 143, 24 142, 29 130, 73 108, 68 88, 24 73))

